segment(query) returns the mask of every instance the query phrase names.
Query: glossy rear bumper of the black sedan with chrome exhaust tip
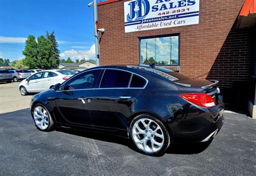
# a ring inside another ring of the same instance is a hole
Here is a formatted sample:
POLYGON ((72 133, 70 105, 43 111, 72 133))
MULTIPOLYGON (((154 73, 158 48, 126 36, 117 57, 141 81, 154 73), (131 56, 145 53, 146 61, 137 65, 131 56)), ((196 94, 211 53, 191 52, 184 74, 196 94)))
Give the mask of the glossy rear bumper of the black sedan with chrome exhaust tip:
POLYGON ((195 106, 183 110, 175 117, 170 130, 173 143, 196 143, 211 140, 223 126, 224 106, 219 106, 210 111, 204 111, 195 106))

